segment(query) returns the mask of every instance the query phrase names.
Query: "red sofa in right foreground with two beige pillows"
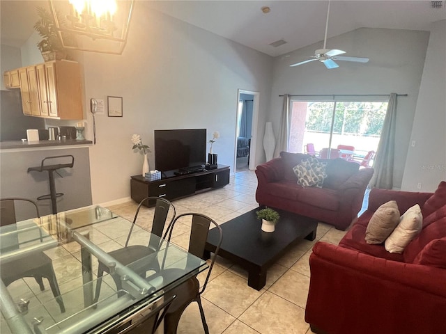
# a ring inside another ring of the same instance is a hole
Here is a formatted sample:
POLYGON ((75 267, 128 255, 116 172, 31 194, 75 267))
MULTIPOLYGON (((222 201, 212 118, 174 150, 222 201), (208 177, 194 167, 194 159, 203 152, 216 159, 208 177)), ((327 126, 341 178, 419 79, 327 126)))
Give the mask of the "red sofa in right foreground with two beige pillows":
POLYGON ((314 333, 446 333, 446 182, 435 193, 372 189, 369 207, 339 246, 318 242, 309 258, 305 321, 314 333), (402 254, 364 241, 376 209, 419 204, 423 227, 402 254))

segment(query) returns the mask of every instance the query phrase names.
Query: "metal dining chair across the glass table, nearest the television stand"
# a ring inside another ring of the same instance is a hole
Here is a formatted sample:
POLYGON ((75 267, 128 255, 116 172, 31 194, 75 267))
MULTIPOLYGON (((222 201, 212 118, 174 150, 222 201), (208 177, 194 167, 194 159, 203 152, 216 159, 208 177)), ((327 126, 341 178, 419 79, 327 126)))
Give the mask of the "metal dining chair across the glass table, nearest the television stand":
MULTIPOLYGON (((146 257, 148 255, 151 255, 152 253, 155 253, 155 251, 157 251, 160 248, 160 240, 162 240, 160 238, 162 238, 162 232, 164 231, 164 227, 166 226, 166 221, 167 221, 167 216, 169 216, 169 211, 171 211, 171 220, 169 221, 168 226, 171 225, 176 216, 176 209, 169 200, 155 196, 149 196, 141 200, 141 202, 139 202, 139 205, 137 207, 137 211, 134 214, 132 227, 128 232, 127 240, 125 241, 125 246, 123 248, 113 250, 108 254, 112 256, 116 261, 126 266, 136 260, 141 259, 142 257, 146 257), (139 209, 141 209, 141 206, 144 205, 145 202, 151 202, 151 201, 152 202, 155 201, 155 214, 153 215, 151 237, 148 240, 148 245, 130 246, 129 241, 130 237, 132 236, 134 225, 137 222, 139 209)), ((167 228, 167 230, 168 229, 169 228, 167 228)), ((154 263, 154 265, 156 264, 154 263)), ((102 276, 104 275, 104 273, 110 273, 110 269, 109 267, 107 267, 107 264, 99 262, 98 280, 96 283, 95 298, 93 300, 93 303, 96 303, 99 300, 100 287, 102 285, 102 276)), ((144 273, 139 273, 139 274, 143 276, 144 273)), ((121 277, 114 273, 112 273, 111 276, 114 282, 116 283, 116 289, 119 292, 122 289, 121 277)))

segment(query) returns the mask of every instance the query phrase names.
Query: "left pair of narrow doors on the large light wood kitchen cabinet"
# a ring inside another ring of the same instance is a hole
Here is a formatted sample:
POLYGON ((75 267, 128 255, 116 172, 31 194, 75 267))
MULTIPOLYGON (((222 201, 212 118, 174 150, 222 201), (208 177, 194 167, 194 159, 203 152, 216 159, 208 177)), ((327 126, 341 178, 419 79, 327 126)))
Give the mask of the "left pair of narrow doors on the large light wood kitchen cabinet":
POLYGON ((23 113, 27 116, 40 116, 36 66, 21 67, 18 71, 23 113))

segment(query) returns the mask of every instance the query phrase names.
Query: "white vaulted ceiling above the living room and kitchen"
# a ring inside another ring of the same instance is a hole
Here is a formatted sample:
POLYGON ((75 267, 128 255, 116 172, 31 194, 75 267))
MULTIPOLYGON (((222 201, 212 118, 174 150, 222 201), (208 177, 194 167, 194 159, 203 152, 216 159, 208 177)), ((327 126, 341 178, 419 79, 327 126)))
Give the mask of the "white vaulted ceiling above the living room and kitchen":
MULTIPOLYGON (((440 2, 441 8, 431 8, 426 0, 332 0, 328 38, 361 27, 428 30, 432 22, 446 19, 445 1, 440 2)), ((48 6, 48 1, 1 0, 1 44, 20 47, 29 38, 37 6, 48 6)), ((279 56, 323 40, 328 1, 136 1, 134 10, 144 8, 279 56), (261 10, 265 6, 267 14, 261 10), (270 45, 278 40, 286 43, 270 45)), ((132 29, 138 27, 130 26, 130 33, 132 29)))

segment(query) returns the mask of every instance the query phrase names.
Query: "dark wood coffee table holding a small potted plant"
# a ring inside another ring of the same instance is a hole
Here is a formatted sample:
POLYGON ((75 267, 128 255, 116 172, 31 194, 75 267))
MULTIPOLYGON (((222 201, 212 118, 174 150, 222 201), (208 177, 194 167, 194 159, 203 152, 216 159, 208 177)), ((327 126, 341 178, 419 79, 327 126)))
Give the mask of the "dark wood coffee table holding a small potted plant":
MULTIPOLYGON (((293 244, 302 239, 314 240, 318 223, 312 218, 276 209, 280 219, 275 231, 263 232, 257 210, 259 208, 220 225, 223 241, 218 255, 247 269, 249 287, 260 290, 265 286, 268 268, 293 244)), ((217 230, 213 228, 208 234, 205 259, 215 251, 217 238, 217 230)))

